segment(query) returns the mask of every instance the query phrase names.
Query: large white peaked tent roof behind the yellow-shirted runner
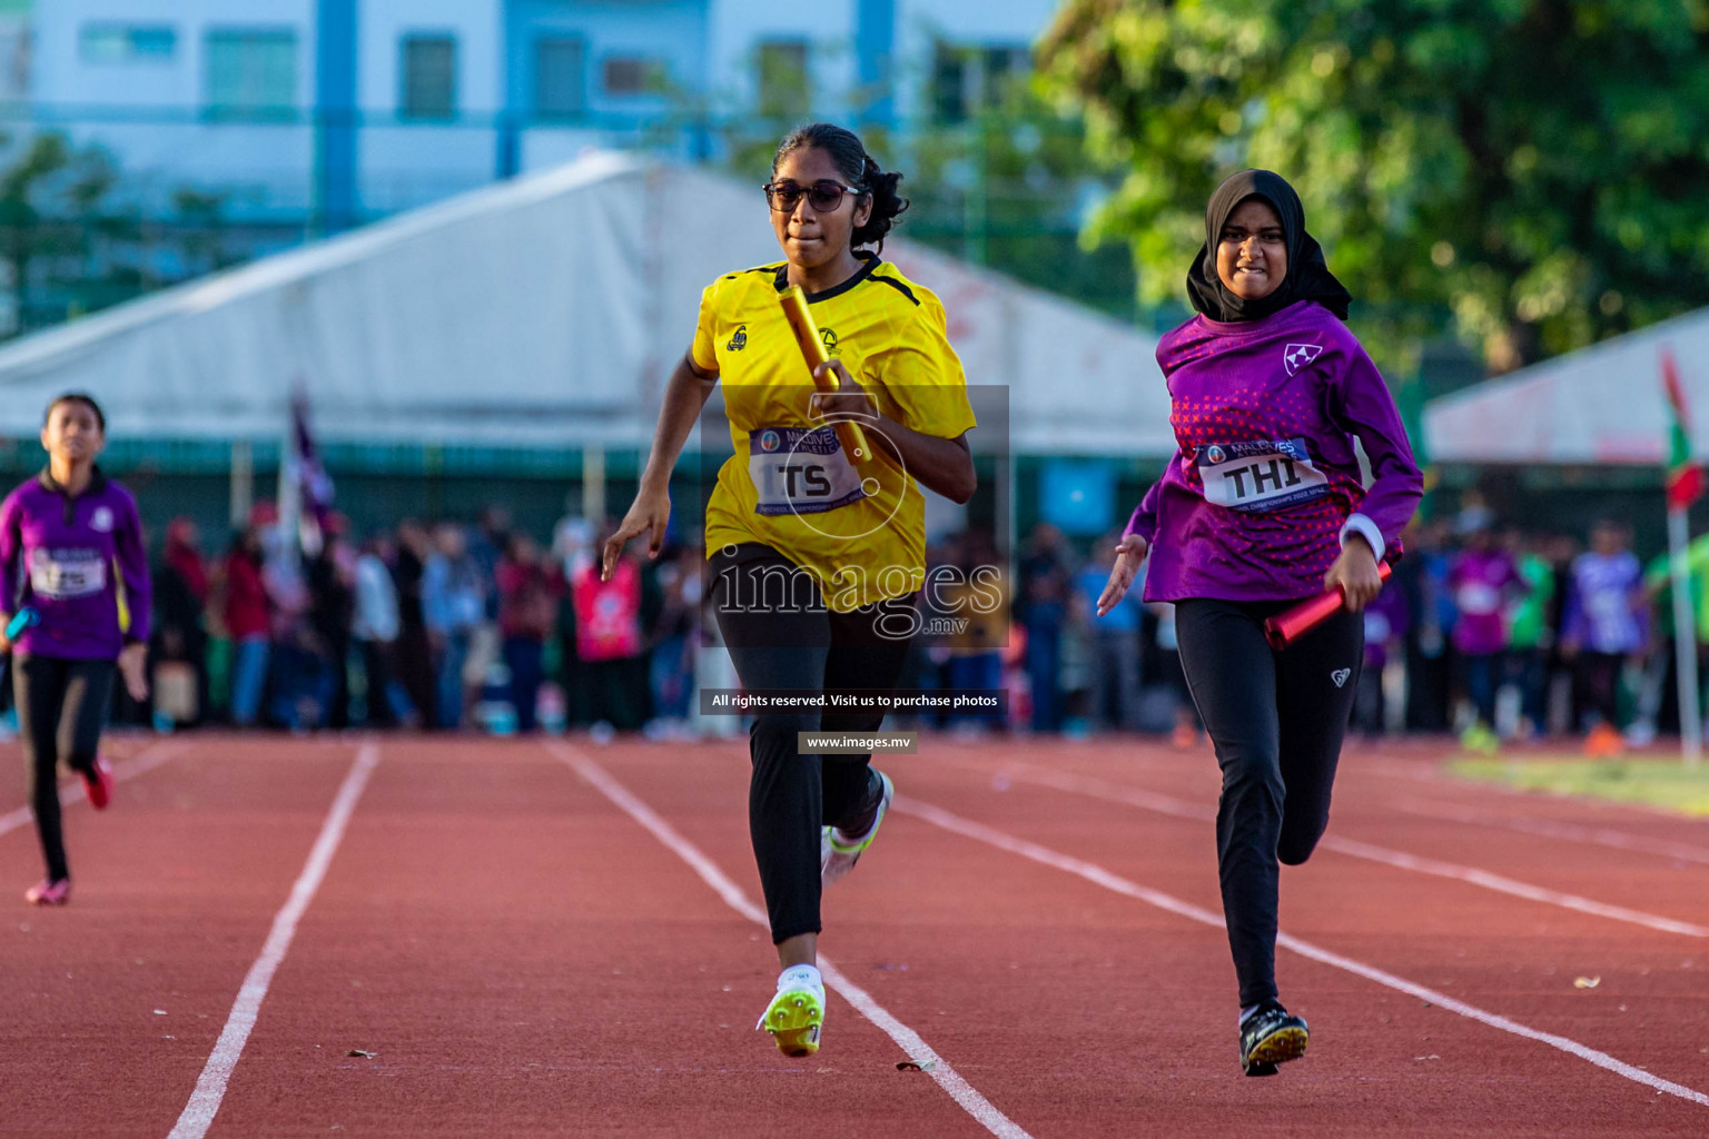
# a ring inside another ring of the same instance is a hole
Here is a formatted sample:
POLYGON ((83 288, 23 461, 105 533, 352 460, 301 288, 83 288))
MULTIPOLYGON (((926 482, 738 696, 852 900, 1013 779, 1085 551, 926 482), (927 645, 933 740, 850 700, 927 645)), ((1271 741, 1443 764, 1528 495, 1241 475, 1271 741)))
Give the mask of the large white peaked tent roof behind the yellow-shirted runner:
MULTIPOLYGON (((943 299, 969 383, 1008 388, 1017 451, 1172 446, 1155 338, 906 241, 885 256, 943 299)), ((115 437, 270 439, 301 384, 326 439, 644 447, 701 289, 774 260, 754 188, 590 154, 0 347, 0 434, 87 389, 115 437)))

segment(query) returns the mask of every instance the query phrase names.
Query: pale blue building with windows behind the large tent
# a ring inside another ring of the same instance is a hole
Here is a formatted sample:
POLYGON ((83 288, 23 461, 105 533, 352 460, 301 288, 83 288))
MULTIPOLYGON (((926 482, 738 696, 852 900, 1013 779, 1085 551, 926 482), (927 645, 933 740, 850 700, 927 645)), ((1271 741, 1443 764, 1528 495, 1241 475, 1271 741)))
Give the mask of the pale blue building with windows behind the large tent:
MULTIPOLYGON (((15 0, 14 0, 15 5, 15 0)), ((140 196, 342 229, 588 147, 714 157, 730 123, 906 131, 1025 68, 1054 0, 51 0, 27 118, 140 196)))

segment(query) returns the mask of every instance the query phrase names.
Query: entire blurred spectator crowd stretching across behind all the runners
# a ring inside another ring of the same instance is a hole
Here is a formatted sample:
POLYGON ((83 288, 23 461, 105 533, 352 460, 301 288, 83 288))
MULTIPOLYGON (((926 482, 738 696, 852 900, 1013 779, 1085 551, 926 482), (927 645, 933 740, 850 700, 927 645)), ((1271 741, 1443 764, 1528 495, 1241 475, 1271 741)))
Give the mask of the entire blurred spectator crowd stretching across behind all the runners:
MULTIPOLYGON (((472 523, 405 519, 357 536, 332 514, 304 552, 260 504, 208 552, 178 519, 156 564, 154 693, 147 707, 121 697, 116 717, 162 729, 738 731, 733 717, 694 716, 699 686, 737 685, 704 552, 631 550, 605 582, 608 529, 571 512, 535 536, 490 505, 472 523)), ((962 608, 974 620, 919 639, 902 685, 1007 690, 1007 716, 937 721, 969 733, 1196 743, 1172 606, 1143 603, 1135 584, 1095 616, 1116 540, 1075 545, 1039 524, 1013 558, 978 531, 935 540, 928 567, 962 582, 996 567, 1000 605, 962 608)), ((1357 733, 1451 731, 1468 746, 1583 734, 1617 751, 1678 729, 1668 564, 1641 564, 1622 523, 1528 533, 1471 495, 1458 514, 1415 523, 1405 550, 1364 618, 1357 733)), ((1688 565, 1690 635, 1709 664, 1709 538, 1688 565)))

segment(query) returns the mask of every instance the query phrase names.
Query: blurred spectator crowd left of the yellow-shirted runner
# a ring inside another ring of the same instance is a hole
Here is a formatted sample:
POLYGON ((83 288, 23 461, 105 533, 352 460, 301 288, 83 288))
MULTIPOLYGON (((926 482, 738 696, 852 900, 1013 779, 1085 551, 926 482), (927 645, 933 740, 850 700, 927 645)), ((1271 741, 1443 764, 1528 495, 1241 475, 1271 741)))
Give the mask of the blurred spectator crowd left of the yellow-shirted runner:
POLYGON ((174 521, 156 564, 154 693, 118 719, 159 727, 685 729, 699 546, 627 555, 602 582, 596 526, 547 541, 504 507, 311 541, 270 504, 224 553, 174 521))

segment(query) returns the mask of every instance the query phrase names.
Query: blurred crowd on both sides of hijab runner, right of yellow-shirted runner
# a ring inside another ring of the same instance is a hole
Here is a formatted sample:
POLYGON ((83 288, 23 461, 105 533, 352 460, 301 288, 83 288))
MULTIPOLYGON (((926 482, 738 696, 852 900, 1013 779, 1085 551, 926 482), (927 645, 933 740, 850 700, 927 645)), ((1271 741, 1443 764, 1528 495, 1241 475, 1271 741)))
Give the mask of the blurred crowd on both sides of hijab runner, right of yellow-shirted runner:
MULTIPOLYGON (((1136 584, 1095 616, 1119 534, 1077 550, 1037 526, 1019 557, 1010 659, 1034 731, 1150 731, 1193 743, 1169 605, 1136 584)), ((1365 611, 1354 731, 1456 733, 1473 748, 1584 736, 1615 753, 1678 731, 1666 555, 1641 562, 1630 529, 1583 534, 1502 524, 1477 494, 1415 523, 1395 579, 1365 611)), ((1690 611, 1709 676, 1709 538, 1692 545, 1690 611)), ((962 666, 964 668, 964 666, 962 666)))

